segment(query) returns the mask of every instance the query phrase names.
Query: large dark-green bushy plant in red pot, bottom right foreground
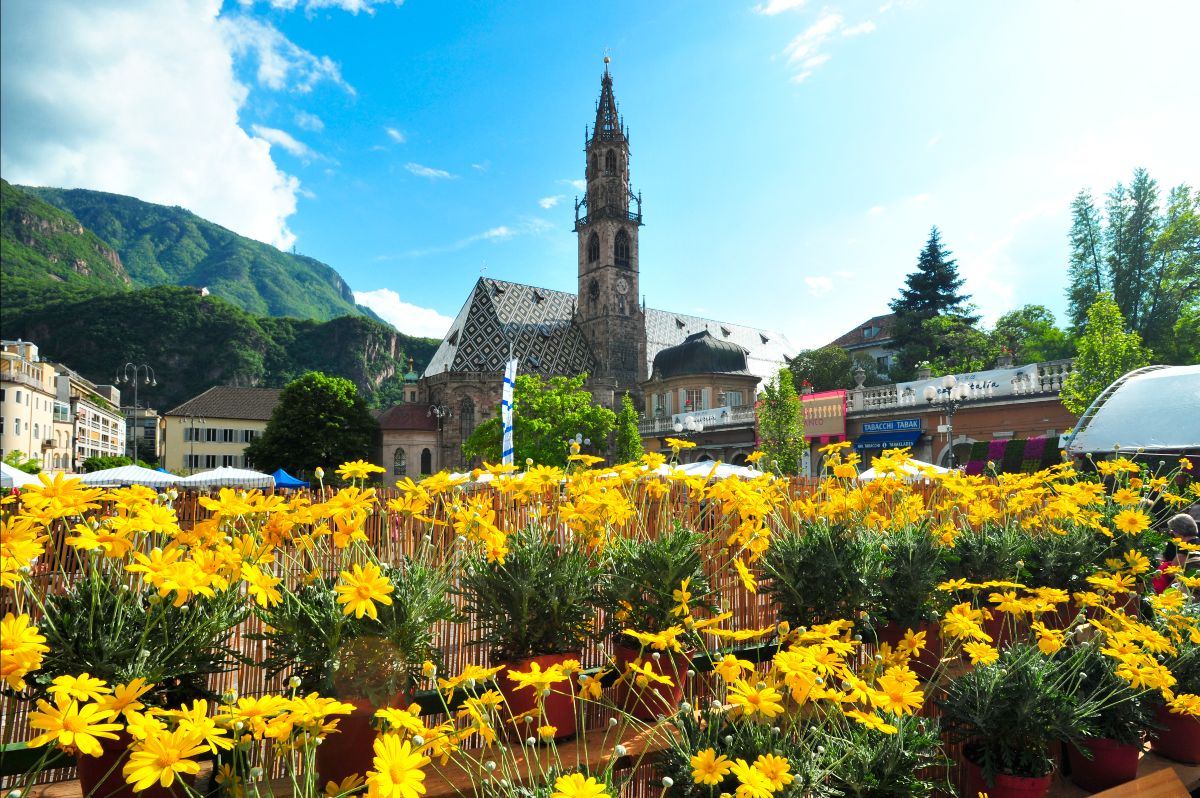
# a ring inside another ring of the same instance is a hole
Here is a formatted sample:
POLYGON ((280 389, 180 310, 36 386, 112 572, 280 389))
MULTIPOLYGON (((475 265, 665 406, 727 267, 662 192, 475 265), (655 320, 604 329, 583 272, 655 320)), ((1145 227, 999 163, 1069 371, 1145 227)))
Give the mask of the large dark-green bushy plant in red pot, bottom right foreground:
POLYGON ((1054 656, 1019 642, 949 682, 938 703, 950 739, 964 744, 965 794, 1045 794, 1051 746, 1096 736, 1103 700, 1079 689, 1086 661, 1082 648, 1054 656))

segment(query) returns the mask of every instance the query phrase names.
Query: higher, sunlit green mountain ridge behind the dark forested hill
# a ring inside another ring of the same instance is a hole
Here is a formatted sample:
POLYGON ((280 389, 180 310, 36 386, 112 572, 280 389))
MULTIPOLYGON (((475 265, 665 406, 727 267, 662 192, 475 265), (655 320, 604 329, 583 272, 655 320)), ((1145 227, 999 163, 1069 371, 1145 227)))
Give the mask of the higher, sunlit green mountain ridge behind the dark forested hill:
MULTIPOLYGON (((10 194, 16 204, 20 192, 65 211, 65 218, 76 220, 107 242, 120 256, 127 283, 134 288, 208 288, 256 316, 319 320, 338 316, 374 317, 354 304, 349 286, 329 265, 238 235, 182 208, 102 191, 7 184, 5 205, 10 194)), ((6 280, 8 275, 6 256, 6 280)))

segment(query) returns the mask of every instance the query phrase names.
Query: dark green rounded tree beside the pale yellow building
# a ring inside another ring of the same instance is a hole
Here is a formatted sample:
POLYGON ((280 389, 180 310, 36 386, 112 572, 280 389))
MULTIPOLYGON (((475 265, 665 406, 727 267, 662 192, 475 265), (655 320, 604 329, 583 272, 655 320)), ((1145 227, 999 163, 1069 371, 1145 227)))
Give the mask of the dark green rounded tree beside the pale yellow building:
POLYGON ((354 383, 313 371, 283 389, 266 430, 246 446, 246 457, 260 470, 329 472, 347 461, 368 460, 377 430, 354 383))

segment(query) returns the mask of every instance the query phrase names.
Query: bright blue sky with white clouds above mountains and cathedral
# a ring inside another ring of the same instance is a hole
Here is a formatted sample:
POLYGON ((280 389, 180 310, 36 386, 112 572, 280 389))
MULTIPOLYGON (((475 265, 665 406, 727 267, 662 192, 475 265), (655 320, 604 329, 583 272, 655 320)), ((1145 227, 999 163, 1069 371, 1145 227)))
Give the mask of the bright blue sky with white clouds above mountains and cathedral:
POLYGON ((937 224, 985 320, 1064 308, 1069 203, 1200 182, 1178 2, 13 0, 0 173, 180 204, 440 337, 488 276, 575 290, 601 58, 649 305, 820 346, 937 224), (50 91, 47 91, 47 88, 50 91))

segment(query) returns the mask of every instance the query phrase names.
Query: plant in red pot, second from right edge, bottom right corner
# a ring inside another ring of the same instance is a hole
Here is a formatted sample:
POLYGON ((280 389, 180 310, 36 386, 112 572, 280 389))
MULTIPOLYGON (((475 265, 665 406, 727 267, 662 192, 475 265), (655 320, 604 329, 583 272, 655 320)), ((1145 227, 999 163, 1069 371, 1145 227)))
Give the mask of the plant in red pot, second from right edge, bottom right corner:
POLYGON ((1094 719, 1093 734, 1067 746, 1067 762, 1072 781, 1100 792, 1138 778, 1142 740, 1154 725, 1152 694, 1130 688, 1116 674, 1117 660, 1102 654, 1094 644, 1081 648, 1078 690, 1108 698, 1094 719))

